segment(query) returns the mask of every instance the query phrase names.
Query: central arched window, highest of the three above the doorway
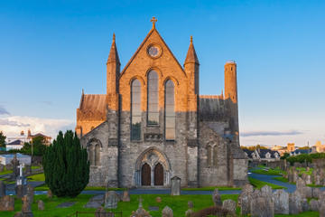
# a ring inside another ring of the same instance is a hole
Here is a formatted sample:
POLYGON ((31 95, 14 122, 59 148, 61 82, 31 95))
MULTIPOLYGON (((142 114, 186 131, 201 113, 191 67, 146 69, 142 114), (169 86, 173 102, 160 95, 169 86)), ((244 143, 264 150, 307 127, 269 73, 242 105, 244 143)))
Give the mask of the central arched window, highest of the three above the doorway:
POLYGON ((147 125, 159 124, 158 108, 158 74, 156 71, 148 73, 148 113, 147 125))

